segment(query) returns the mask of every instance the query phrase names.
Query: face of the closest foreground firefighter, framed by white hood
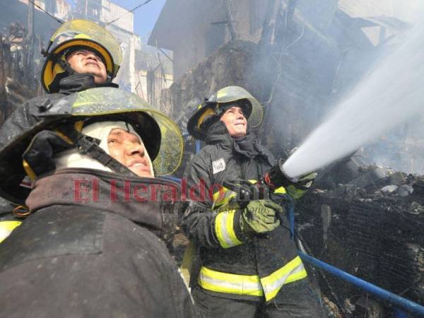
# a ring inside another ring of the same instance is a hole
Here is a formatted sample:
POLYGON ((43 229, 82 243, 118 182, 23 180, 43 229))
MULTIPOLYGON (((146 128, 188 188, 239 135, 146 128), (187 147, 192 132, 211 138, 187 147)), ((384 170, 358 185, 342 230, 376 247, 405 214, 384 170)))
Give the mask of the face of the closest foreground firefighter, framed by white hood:
POLYGON ((110 156, 139 177, 153 177, 151 161, 138 136, 124 129, 112 129, 107 136, 110 156))

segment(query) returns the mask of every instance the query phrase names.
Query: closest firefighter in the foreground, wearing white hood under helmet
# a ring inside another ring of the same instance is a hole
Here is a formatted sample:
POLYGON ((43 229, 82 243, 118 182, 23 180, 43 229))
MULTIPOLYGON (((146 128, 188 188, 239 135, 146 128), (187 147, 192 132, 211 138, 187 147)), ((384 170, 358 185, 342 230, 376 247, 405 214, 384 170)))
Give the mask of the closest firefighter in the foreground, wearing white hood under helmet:
POLYGON ((0 316, 197 317, 159 238, 175 228, 178 184, 155 177, 179 165, 175 123, 117 88, 25 112, 35 124, 0 131, 0 193, 29 213, 0 244, 0 316))

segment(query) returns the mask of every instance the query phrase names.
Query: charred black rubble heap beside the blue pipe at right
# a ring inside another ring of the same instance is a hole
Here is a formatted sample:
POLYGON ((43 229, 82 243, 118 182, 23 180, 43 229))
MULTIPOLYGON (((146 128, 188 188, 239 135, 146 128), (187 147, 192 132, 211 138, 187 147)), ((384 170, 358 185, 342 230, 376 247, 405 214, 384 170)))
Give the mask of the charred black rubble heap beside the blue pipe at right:
MULTIPOLYGON (((353 157, 324 172, 298 202, 298 233, 314 257, 422 305, 424 177, 362 164, 353 157)), ((384 317, 384 304, 339 278, 319 285, 348 317, 384 317)))

